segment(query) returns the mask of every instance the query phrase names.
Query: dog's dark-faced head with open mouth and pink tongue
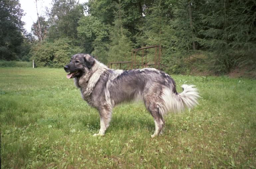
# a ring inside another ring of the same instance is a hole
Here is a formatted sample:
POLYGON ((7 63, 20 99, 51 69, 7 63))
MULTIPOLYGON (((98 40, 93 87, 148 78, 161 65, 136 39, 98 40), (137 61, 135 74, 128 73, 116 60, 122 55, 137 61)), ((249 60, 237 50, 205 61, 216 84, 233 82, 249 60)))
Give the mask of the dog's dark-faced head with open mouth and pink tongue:
POLYGON ((86 72, 88 72, 95 60, 90 54, 75 54, 71 57, 69 64, 64 67, 66 72, 70 72, 67 74, 67 78, 80 77, 86 72))

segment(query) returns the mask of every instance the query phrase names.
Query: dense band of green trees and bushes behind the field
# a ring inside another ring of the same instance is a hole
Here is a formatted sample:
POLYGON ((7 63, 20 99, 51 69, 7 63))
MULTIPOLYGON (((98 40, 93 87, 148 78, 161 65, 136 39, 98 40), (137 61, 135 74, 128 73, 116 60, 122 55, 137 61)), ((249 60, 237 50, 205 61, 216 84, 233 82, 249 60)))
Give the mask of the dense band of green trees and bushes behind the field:
MULTIPOLYGON (((31 57, 39 66, 60 67, 64 57, 86 52, 104 63, 131 61, 132 49, 160 45, 161 69, 172 73, 196 67, 219 74, 256 64, 254 0, 53 0, 47 17, 39 17, 42 42, 24 41, 23 13, 11 1, 1 3, 1 59, 31 57), (29 43, 22 48, 23 42, 29 43)), ((36 22, 36 37, 37 30, 36 22)), ((145 54, 147 61, 137 53, 137 63, 154 62, 154 49, 145 54)))

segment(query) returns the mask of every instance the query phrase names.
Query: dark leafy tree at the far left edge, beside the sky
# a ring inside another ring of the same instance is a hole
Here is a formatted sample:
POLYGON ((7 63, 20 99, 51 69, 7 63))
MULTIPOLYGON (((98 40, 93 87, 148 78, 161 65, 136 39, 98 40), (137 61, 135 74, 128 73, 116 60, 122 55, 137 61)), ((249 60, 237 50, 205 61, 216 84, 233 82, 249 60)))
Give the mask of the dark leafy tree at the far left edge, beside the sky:
POLYGON ((18 0, 0 2, 0 59, 19 59, 23 42, 24 16, 18 0))

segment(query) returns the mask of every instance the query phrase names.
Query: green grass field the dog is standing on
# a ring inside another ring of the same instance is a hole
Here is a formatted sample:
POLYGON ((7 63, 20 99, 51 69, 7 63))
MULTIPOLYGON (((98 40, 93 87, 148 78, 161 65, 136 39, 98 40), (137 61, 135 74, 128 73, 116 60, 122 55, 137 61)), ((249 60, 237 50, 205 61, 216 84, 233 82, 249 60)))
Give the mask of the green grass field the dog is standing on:
POLYGON ((194 84, 194 109, 163 135, 141 103, 122 104, 104 137, 62 69, 0 68, 1 168, 256 168, 256 80, 172 75, 194 84))

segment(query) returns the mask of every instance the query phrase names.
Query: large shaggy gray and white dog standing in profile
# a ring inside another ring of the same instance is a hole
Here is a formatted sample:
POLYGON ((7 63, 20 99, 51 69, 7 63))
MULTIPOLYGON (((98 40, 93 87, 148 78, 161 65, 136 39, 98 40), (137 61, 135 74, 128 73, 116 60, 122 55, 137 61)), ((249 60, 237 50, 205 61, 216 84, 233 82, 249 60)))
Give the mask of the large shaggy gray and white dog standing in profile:
POLYGON ((64 67, 67 78, 74 78, 82 98, 99 110, 101 128, 96 135, 104 135, 110 125, 112 108, 119 103, 142 100, 154 118, 155 132, 162 133, 167 112, 180 112, 197 104, 198 90, 194 85, 182 85, 177 93, 174 80, 154 68, 114 70, 89 54, 75 54, 64 67))

